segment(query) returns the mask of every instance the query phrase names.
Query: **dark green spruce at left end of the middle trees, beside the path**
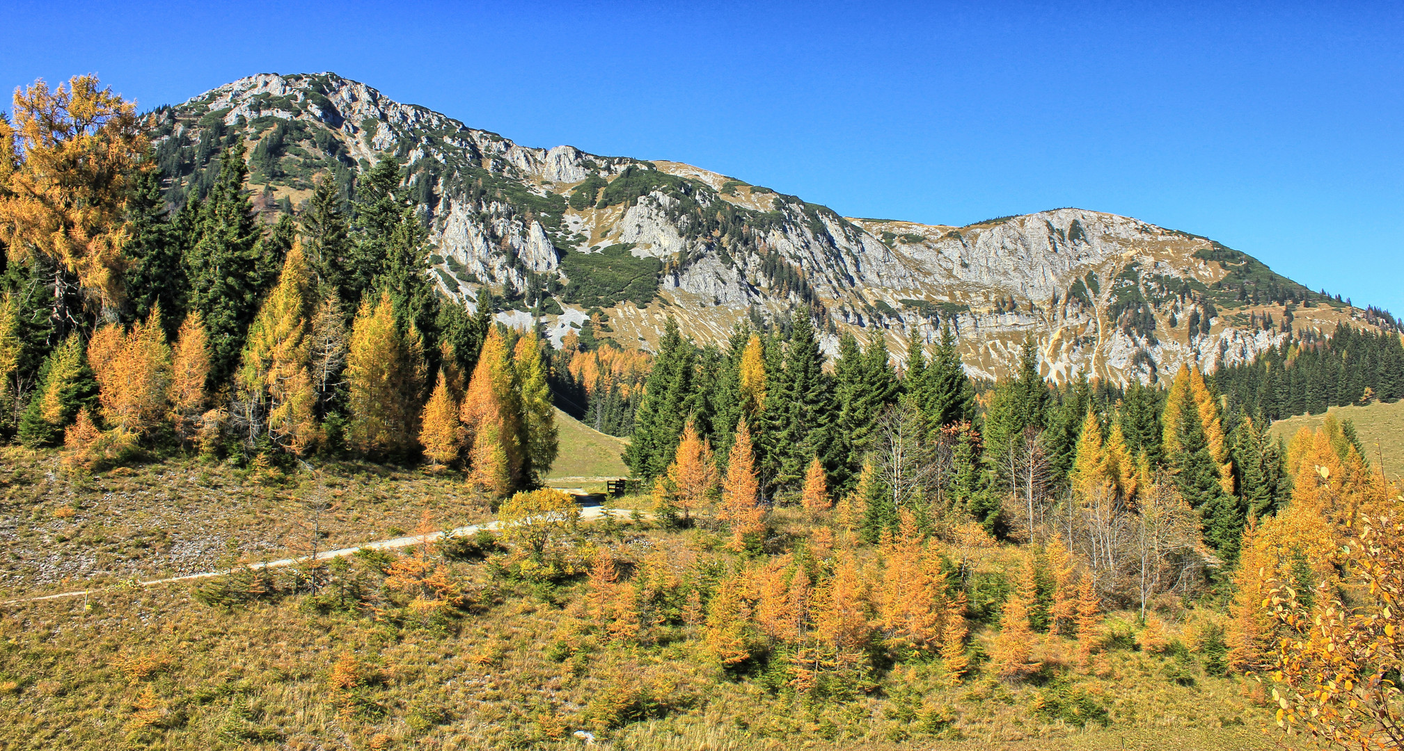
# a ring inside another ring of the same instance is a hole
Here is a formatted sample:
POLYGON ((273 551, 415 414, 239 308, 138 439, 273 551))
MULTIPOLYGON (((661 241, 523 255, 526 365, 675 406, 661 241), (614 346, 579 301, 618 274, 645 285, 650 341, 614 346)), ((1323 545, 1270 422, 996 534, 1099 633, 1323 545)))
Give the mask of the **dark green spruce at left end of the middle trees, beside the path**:
POLYGON ((663 474, 694 407, 692 362, 696 348, 682 338, 671 316, 658 337, 658 354, 635 414, 633 437, 623 452, 629 470, 644 479, 663 474))

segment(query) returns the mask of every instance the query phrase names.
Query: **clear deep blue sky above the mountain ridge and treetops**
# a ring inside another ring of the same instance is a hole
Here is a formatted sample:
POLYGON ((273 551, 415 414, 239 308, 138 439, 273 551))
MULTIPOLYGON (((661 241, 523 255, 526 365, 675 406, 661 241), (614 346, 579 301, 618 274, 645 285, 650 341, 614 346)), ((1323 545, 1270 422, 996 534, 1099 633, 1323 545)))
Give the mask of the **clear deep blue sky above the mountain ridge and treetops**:
POLYGON ((849 216, 1057 206, 1404 313, 1404 4, 28 3, 0 84, 143 107, 333 70, 529 146, 688 161, 849 216))

